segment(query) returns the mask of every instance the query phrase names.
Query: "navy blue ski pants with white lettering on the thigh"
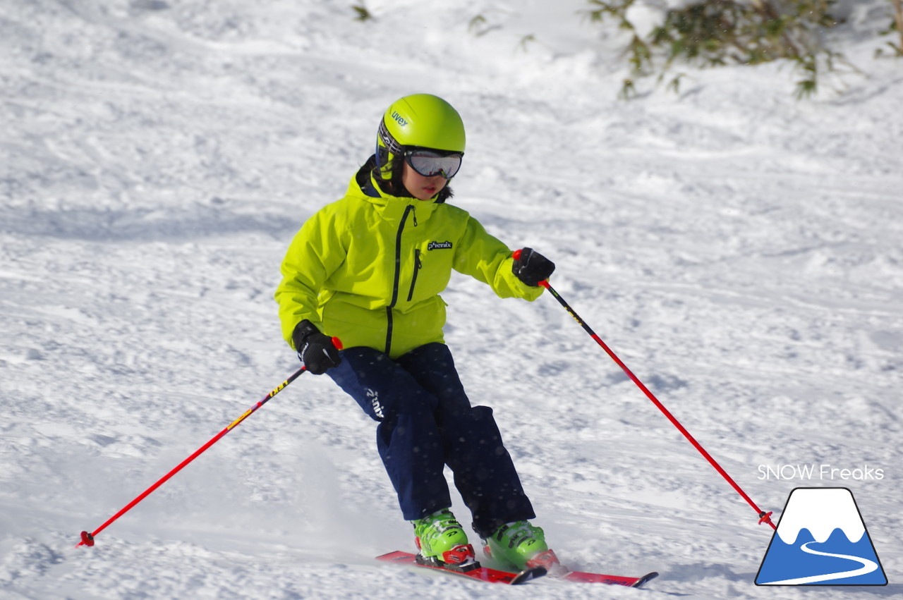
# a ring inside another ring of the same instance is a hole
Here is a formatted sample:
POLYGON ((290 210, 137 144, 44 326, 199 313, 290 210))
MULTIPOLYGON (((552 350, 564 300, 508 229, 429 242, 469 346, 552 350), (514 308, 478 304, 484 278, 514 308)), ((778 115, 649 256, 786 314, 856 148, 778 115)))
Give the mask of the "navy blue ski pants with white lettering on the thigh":
POLYGON ((535 517, 492 409, 470 406, 448 346, 427 344, 396 360, 354 347, 341 358, 327 373, 379 422, 377 449, 405 520, 452 506, 445 465, 481 537, 535 517))

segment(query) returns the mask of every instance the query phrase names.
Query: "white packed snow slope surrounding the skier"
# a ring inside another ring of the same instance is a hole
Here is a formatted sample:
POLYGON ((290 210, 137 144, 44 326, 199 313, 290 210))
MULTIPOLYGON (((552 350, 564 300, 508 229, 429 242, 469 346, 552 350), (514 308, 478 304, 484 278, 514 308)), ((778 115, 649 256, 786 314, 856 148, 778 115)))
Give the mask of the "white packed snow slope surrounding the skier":
MULTIPOLYGON (((810 100, 771 64, 682 67, 679 94, 630 102, 625 41, 582 1, 368 0, 363 23, 350 4, 0 4, 0 596, 639 597, 377 564, 410 525, 374 424, 312 375, 73 549, 298 368, 272 300, 284 250, 415 92, 467 125, 454 202, 552 258, 555 289, 762 508, 849 487, 890 582, 858 593, 903 596, 889 3, 842 3, 848 64, 810 100)), ((810 597, 753 585, 771 530, 550 294, 457 276, 444 298, 471 401, 566 563, 657 570, 648 597, 810 597)))

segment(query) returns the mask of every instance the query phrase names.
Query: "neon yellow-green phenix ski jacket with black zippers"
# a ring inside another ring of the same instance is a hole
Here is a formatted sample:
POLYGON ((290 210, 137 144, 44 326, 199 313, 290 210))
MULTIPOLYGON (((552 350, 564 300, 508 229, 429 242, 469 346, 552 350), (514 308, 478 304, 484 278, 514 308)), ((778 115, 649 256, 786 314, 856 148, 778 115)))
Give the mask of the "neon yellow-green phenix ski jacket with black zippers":
POLYGON ((452 269, 488 283, 501 298, 535 300, 511 271, 511 250, 467 211, 444 203, 386 195, 351 179, 344 198, 310 217, 294 236, 275 291, 283 337, 293 346, 305 318, 342 346, 368 346, 397 358, 444 342, 452 269))

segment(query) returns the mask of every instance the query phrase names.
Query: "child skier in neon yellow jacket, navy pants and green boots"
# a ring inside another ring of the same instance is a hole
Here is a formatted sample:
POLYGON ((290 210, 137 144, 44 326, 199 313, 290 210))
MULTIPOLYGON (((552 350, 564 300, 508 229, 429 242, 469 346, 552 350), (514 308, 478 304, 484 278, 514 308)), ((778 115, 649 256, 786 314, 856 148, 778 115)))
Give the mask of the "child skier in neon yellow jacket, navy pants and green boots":
POLYGON ((518 569, 557 560, 505 449, 492 410, 470 406, 445 346, 439 292, 452 269, 502 298, 535 300, 554 271, 446 204, 464 154, 461 116, 428 94, 403 97, 379 123, 376 153, 344 198, 295 235, 275 292, 283 335, 312 374, 328 372, 377 425, 377 449, 422 561, 474 561, 442 470, 484 549, 518 569), (343 350, 332 345, 341 340, 343 350))

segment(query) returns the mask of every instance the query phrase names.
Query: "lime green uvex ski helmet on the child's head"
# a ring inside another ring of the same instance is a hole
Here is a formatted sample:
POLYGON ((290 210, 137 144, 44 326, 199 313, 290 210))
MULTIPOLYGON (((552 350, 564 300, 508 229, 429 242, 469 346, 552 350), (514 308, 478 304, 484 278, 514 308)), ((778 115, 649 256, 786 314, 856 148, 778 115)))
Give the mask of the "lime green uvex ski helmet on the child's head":
POLYGON ((392 166, 405 146, 464 153, 464 122, 452 105, 432 94, 399 98, 386 109, 377 133, 379 176, 392 177, 392 166))

